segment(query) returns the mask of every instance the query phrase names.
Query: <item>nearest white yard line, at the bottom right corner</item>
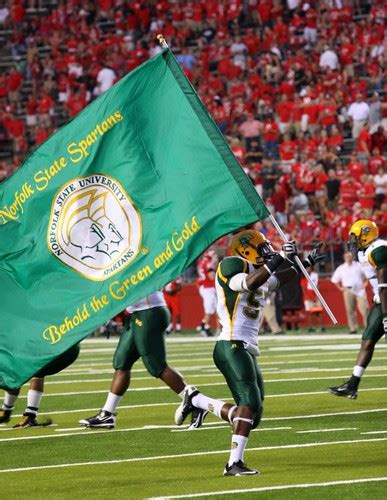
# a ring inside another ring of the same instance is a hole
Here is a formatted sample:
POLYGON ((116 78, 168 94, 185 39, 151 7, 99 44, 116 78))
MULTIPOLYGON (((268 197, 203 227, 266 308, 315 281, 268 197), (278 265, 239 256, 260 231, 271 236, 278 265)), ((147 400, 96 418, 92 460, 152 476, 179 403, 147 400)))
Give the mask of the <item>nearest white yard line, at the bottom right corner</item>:
POLYGON ((324 486, 340 486, 344 484, 360 484, 360 483, 374 483, 379 481, 387 481, 386 477, 369 477, 364 479, 348 479, 340 481, 326 481, 323 483, 300 483, 300 484, 282 484, 280 486, 259 486, 258 488, 246 488, 238 490, 224 490, 224 491, 207 491, 205 493, 190 493, 188 495, 172 495, 164 497, 151 497, 148 500, 172 500, 175 498, 197 498, 217 495, 235 495, 236 493, 259 493, 261 491, 280 491, 291 489, 307 489, 307 488, 321 488, 324 486))

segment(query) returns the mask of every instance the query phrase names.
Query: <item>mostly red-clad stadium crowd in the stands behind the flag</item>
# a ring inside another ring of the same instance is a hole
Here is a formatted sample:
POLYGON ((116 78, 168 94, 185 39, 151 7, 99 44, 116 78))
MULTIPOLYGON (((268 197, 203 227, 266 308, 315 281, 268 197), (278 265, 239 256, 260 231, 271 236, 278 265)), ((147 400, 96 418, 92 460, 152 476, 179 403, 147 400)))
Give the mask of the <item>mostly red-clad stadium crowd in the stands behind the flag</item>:
POLYGON ((0 180, 162 33, 291 238, 342 254, 359 218, 385 236, 385 14, 382 0, 2 1, 0 180))

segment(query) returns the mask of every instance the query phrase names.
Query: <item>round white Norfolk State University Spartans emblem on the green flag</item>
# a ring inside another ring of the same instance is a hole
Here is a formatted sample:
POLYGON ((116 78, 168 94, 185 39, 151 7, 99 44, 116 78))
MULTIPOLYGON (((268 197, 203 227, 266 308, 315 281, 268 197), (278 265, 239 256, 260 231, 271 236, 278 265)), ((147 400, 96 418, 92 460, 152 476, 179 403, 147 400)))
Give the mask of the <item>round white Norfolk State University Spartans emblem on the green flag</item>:
POLYGON ((75 179, 57 193, 48 228, 51 252, 92 280, 129 264, 141 243, 138 212, 111 177, 75 179))

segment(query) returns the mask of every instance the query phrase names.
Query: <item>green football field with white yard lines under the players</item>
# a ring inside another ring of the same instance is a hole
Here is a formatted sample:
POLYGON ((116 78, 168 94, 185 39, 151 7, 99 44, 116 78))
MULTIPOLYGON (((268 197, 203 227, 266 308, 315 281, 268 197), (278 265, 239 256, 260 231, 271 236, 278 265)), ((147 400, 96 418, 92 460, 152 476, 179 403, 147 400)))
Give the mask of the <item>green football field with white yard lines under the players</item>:
MULTIPOLYGON (((192 332, 191 332, 192 333, 192 332)), ((387 498, 387 344, 382 339, 357 400, 328 394, 346 380, 360 335, 263 336, 265 410, 245 454, 260 475, 223 477, 230 427, 209 415, 202 429, 174 425, 178 397, 141 362, 113 430, 84 429, 109 389, 117 338, 88 339, 71 367, 46 380, 45 428, 0 425, 0 497, 12 499, 387 498)), ((190 384, 230 401, 212 361, 214 340, 167 339, 169 364, 190 384)))

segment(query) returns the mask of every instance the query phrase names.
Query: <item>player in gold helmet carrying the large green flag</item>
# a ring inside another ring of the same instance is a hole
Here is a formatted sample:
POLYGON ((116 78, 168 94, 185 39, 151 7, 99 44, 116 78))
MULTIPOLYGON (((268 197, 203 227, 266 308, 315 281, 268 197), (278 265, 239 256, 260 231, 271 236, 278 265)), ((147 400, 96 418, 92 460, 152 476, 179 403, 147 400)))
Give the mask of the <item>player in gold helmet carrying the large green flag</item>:
MULTIPOLYGON (((176 410, 177 425, 193 406, 230 422, 233 434, 225 476, 258 473, 246 466, 243 456, 250 431, 259 424, 263 411, 263 379, 256 361, 262 310, 269 293, 299 274, 298 266, 291 260, 297 252, 295 242, 285 243, 282 249, 290 262, 279 270, 284 257, 274 251, 262 233, 245 230, 232 240, 231 257, 223 259, 217 268, 217 312, 222 329, 213 356, 236 404, 208 398, 189 386, 176 410)), ((311 267, 322 259, 324 256, 316 248, 304 265, 311 267)))

